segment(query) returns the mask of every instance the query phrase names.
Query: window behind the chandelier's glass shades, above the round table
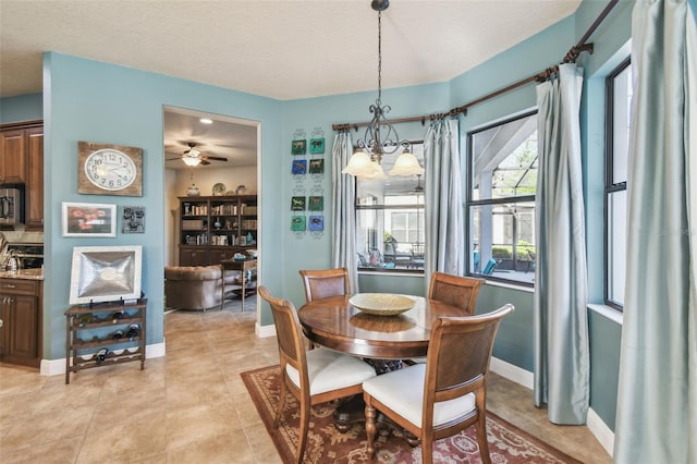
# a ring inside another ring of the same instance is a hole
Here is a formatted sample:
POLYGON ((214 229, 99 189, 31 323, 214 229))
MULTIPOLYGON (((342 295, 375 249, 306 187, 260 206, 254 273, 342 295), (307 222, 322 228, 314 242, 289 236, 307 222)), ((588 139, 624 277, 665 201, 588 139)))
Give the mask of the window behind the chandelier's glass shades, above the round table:
MULTIPOLYGON (((424 166, 424 143, 412 143, 424 166)), ((389 172, 398 149, 384 155, 389 172)), ((387 180, 356 179, 356 249, 358 270, 424 272, 424 180, 420 175, 387 180)))

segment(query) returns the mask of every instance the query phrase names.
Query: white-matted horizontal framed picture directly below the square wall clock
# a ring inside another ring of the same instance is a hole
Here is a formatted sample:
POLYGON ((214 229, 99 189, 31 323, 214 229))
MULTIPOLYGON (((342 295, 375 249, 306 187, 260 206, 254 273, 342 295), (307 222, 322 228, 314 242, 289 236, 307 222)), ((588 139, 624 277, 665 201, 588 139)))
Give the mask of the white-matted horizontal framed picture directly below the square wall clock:
POLYGON ((63 236, 117 236, 117 205, 62 204, 63 236))

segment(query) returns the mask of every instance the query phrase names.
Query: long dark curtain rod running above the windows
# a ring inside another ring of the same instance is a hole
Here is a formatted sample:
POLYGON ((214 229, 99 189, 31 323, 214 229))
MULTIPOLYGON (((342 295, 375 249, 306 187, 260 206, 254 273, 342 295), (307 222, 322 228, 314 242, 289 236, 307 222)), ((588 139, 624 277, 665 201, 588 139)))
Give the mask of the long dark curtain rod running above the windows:
MULTIPOLYGON (((596 17, 596 21, 594 21, 594 23, 590 25, 590 27, 588 27, 588 30, 586 30, 586 33, 583 35, 583 37, 580 38, 580 40, 578 40, 578 44, 576 44, 575 46, 573 46, 568 52, 566 52, 566 54, 564 56, 564 58, 562 59, 562 64, 563 63, 575 63, 576 59, 578 58, 578 56, 584 52, 587 51, 589 53, 592 54, 592 44, 586 44, 586 40, 588 40, 588 38, 592 35, 592 33, 596 32, 596 29, 598 28, 598 26, 600 25, 600 23, 602 23, 604 21, 604 19, 608 16, 608 14, 610 13, 610 11, 614 8, 615 4, 617 4, 620 0, 610 0, 610 2, 606 5, 606 8, 600 12, 600 14, 598 15, 598 17, 596 17)), ((500 88, 498 90, 494 90, 490 94, 485 95, 484 97, 479 97, 474 101, 470 101, 468 103, 465 103, 461 107, 457 108, 453 108, 448 112, 444 113, 435 113, 435 114, 428 114, 428 115, 420 115, 420 117, 409 117, 409 118, 400 118, 400 119, 392 119, 390 120, 391 123, 401 123, 401 122, 416 122, 416 121, 420 121, 421 125, 426 124, 426 120, 436 120, 436 119, 442 119, 442 118, 447 118, 447 117, 453 117, 453 115, 457 115, 457 114, 463 114, 463 115, 467 115, 467 108, 469 107, 474 107, 475 105, 479 105, 484 101, 490 100, 492 98, 496 98, 500 95, 503 94, 508 94, 511 90, 514 90, 518 87, 522 87, 526 84, 529 84, 531 82, 543 82, 547 81, 548 78, 550 78, 550 76, 552 76, 554 73, 557 73, 557 71, 559 71, 559 64, 555 64, 551 68, 546 69, 545 71, 541 71, 537 74, 534 74, 529 77, 526 77, 522 81, 518 81, 516 83, 513 83, 506 87, 500 88)), ((333 131, 347 131, 351 129, 355 129, 356 131, 358 130, 358 127, 365 127, 366 125, 370 124, 369 122, 354 122, 354 123, 343 123, 343 124, 332 124, 331 129, 333 131)))

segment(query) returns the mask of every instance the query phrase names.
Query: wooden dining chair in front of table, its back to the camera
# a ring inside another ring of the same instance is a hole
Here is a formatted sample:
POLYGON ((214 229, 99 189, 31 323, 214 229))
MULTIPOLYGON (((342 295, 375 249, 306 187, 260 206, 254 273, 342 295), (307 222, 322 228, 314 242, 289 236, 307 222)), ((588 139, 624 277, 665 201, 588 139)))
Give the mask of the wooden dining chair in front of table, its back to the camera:
POLYGON ((420 439, 421 461, 433 462, 433 441, 472 425, 484 463, 487 443, 487 375, 499 322, 513 312, 506 304, 479 316, 433 321, 426 364, 415 364, 363 382, 367 452, 375 454, 376 410, 420 439))

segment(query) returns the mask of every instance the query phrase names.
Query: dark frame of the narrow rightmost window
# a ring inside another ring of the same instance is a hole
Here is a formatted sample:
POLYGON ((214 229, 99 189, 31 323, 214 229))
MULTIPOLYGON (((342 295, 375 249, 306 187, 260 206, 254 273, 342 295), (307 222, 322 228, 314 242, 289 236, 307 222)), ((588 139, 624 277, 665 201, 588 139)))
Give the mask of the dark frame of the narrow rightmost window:
MULTIPOLYGON (((627 57, 606 77, 606 178, 603 192, 603 301, 604 304, 624 310, 624 305, 610 298, 610 196, 627 190, 627 183, 614 182, 614 83, 615 78, 632 64, 632 57, 627 57)), ((628 162, 627 154, 627 162, 628 162)), ((625 262, 626 268, 626 262, 625 262)))

